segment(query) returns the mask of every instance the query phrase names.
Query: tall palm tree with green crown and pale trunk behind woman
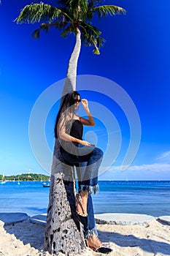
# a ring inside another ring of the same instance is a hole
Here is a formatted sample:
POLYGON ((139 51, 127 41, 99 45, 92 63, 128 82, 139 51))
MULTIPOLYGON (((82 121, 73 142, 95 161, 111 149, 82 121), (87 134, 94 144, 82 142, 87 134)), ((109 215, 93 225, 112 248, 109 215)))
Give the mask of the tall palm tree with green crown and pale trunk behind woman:
MULTIPOLYGON (((93 0, 60 0, 58 6, 40 2, 28 4, 21 10, 17 23, 40 23, 33 32, 39 38, 40 31, 48 32, 50 27, 61 31, 62 37, 74 34, 76 42, 69 59, 63 94, 76 89, 77 61, 80 55, 81 42, 93 46, 93 53, 99 54, 104 44, 101 31, 92 25, 93 15, 99 18, 107 15, 125 14, 125 10, 115 5, 100 5, 93 0)), ((73 220, 75 213, 74 181, 72 168, 66 170, 61 164, 58 140, 55 140, 52 174, 50 178, 50 197, 45 230, 45 247, 54 255, 63 252, 65 255, 78 255, 85 247, 79 223, 73 220), (63 177, 64 174, 66 180, 63 177), (68 180, 72 182, 68 182, 68 180)))

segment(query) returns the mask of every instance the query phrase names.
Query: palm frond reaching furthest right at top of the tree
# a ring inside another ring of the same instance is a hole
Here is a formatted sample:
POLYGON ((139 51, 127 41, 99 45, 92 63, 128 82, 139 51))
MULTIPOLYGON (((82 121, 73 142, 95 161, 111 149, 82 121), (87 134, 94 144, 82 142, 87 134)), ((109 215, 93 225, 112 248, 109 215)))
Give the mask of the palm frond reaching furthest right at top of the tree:
POLYGON ((125 14, 125 9, 122 7, 117 7, 115 5, 101 5, 99 7, 94 7, 93 12, 98 13, 98 17, 106 17, 107 15, 117 15, 117 14, 125 14))

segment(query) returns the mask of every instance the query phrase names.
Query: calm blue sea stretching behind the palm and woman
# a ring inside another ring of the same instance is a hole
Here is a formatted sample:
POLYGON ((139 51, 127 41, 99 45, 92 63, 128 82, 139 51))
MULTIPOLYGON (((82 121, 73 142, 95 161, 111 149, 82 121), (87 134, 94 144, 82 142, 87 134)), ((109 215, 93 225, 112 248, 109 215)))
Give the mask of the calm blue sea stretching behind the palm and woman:
MULTIPOLYGON (((170 215, 170 181, 99 181, 99 187, 93 195, 95 214, 170 215)), ((46 213, 49 191, 40 181, 0 184, 0 212, 46 213)))

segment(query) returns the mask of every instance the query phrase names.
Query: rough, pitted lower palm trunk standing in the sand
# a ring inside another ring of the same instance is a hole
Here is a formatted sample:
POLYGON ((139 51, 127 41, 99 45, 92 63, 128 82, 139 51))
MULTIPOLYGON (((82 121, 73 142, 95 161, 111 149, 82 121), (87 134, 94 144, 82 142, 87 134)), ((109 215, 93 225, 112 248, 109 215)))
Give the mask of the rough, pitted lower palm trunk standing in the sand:
POLYGON ((55 140, 50 180, 49 206, 45 227, 45 249, 52 255, 79 255, 85 248, 76 217, 74 167, 64 165, 60 143, 55 140))

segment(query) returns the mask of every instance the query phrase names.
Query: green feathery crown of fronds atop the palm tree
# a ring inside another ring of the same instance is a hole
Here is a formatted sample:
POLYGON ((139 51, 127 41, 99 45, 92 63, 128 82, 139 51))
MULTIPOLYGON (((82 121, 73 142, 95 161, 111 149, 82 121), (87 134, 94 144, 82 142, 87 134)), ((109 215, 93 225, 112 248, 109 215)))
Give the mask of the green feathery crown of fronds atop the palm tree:
POLYGON ((68 34, 77 33, 80 29, 82 34, 82 42, 86 46, 93 45, 93 53, 99 54, 98 48, 104 44, 101 31, 92 25, 93 15, 98 15, 99 18, 107 15, 125 14, 125 10, 115 5, 96 6, 99 1, 93 0, 72 0, 58 1, 58 6, 54 7, 50 4, 40 2, 39 4, 28 4, 20 12, 17 23, 41 23, 39 29, 33 32, 33 36, 39 38, 39 31, 49 31, 53 26, 61 31, 62 37, 67 37, 68 34))

